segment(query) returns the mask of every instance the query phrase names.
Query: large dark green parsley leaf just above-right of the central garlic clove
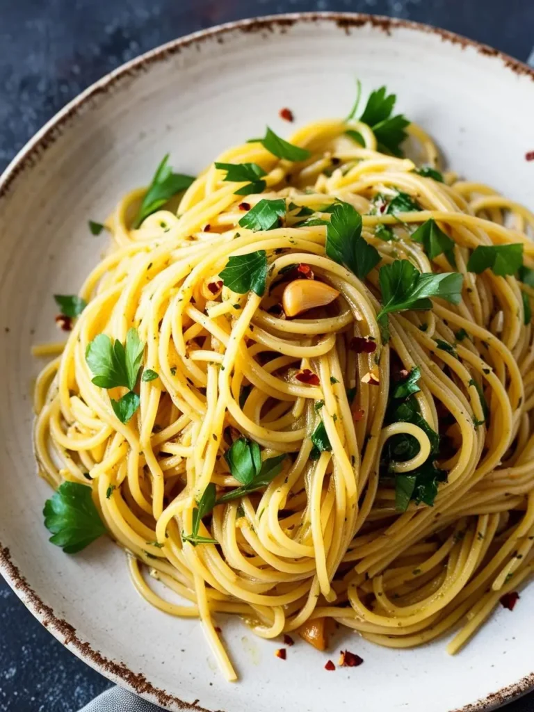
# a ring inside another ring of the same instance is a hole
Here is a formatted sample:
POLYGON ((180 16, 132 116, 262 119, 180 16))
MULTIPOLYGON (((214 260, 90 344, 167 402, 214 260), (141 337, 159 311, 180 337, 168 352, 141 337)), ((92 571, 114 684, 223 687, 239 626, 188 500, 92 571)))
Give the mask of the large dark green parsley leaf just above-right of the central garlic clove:
POLYGON ((362 216, 348 203, 337 203, 326 228, 326 254, 364 279, 382 259, 362 238, 362 216))

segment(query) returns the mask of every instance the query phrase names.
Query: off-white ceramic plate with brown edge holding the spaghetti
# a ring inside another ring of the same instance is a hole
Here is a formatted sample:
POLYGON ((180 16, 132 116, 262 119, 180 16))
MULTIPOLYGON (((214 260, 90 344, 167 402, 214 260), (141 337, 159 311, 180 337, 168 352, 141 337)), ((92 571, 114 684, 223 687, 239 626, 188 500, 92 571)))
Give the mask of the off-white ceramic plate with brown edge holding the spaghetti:
POLYGON ((459 173, 534 208, 530 70, 449 33, 335 14, 236 23, 125 65, 49 122, 0 182, 1 569, 71 650, 168 709, 472 711, 534 685, 534 586, 454 658, 444 641, 394 651, 347 633, 343 643, 365 664, 335 672, 299 642, 277 659, 276 642, 234 620, 224 637, 241 681, 230 685, 199 624, 141 600, 110 541, 73 557, 47 541, 41 511, 50 491, 35 476, 31 448, 38 365, 30 347, 57 339, 53 293, 78 290, 98 260, 105 238, 90 236, 88 219, 103 219, 122 192, 146 184, 167 151, 192 173, 267 122, 288 135, 278 118, 285 106, 298 123, 345 115, 355 77, 367 91, 394 90, 459 173))

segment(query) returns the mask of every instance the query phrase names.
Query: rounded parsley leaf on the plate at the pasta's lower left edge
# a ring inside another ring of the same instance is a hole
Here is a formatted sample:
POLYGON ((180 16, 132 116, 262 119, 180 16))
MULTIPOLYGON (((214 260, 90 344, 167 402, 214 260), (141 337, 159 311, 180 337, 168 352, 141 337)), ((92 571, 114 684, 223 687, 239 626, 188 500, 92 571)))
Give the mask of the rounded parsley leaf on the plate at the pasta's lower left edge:
POLYGON ((93 503, 91 488, 77 482, 63 482, 46 500, 44 523, 53 534, 49 541, 75 554, 105 533, 105 526, 93 503))

